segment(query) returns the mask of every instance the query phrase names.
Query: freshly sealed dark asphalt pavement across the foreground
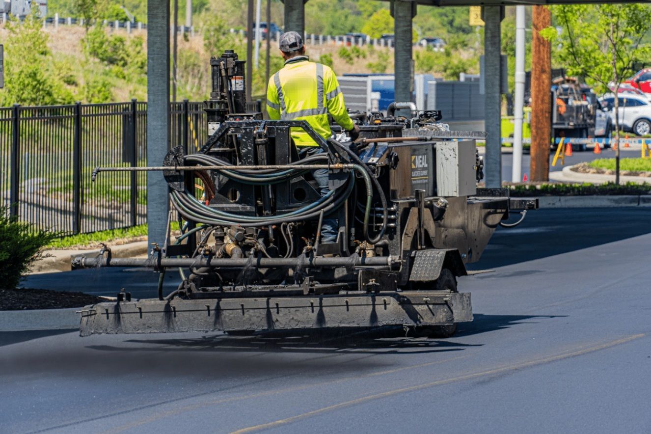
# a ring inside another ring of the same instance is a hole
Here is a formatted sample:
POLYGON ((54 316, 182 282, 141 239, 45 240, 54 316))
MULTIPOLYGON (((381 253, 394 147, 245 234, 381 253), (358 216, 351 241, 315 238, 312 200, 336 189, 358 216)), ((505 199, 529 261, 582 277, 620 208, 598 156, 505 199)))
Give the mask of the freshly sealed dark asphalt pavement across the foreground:
POLYGON ((2 430, 650 432, 648 211, 534 215, 460 279, 475 321, 445 340, 0 334, 2 430))

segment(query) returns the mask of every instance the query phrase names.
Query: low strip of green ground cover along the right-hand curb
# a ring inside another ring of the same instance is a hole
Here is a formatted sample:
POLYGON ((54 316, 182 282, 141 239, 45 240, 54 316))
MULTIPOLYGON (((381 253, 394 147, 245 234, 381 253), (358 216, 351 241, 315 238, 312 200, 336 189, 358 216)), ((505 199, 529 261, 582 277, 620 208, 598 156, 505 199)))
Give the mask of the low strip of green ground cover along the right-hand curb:
POLYGON ((627 182, 625 184, 604 183, 596 185, 584 183, 548 183, 541 185, 510 185, 512 197, 536 196, 615 196, 615 195, 648 195, 651 185, 627 182))

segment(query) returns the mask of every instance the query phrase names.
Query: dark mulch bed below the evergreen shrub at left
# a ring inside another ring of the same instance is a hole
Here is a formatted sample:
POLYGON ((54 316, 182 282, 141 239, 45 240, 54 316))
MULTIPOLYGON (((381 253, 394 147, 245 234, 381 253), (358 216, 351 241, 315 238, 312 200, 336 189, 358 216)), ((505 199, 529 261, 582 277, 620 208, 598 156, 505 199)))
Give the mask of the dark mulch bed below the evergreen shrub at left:
POLYGON ((32 290, 0 290, 0 310, 61 309, 102 303, 106 299, 83 292, 32 290))

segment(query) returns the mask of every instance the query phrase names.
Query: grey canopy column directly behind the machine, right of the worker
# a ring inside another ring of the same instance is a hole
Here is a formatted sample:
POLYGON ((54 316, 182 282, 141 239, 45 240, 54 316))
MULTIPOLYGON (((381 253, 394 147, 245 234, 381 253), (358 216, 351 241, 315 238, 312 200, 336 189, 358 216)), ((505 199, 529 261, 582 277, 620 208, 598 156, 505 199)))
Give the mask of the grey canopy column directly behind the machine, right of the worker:
MULTIPOLYGON (((413 17, 416 16, 416 2, 395 0, 391 2, 391 16, 394 18, 395 49, 395 100, 410 102, 413 99, 413 17)), ((396 111, 396 114, 404 115, 396 111)))

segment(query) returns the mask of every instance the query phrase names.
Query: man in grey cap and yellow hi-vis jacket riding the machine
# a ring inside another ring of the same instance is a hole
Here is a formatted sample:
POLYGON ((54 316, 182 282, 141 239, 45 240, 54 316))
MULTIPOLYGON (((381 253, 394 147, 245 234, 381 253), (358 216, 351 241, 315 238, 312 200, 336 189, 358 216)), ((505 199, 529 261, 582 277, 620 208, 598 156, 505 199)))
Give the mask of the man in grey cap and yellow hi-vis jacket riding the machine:
MULTIPOLYGON (((280 38, 283 69, 269 80, 267 90, 267 113, 272 120, 305 120, 324 139, 332 135, 328 115, 344 130, 351 140, 359 137, 359 126, 353 124, 341 93, 335 73, 329 66, 310 62, 305 55, 305 45, 301 35, 290 31, 280 38)), ((292 140, 299 156, 305 158, 319 152, 322 148, 301 128, 292 128, 292 140)), ((319 186, 320 194, 329 192, 327 169, 312 172, 319 186)), ((339 224, 337 219, 326 218, 321 230, 321 241, 333 243, 337 239, 339 224)))

